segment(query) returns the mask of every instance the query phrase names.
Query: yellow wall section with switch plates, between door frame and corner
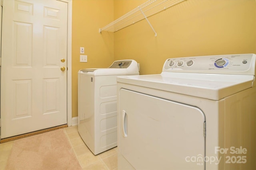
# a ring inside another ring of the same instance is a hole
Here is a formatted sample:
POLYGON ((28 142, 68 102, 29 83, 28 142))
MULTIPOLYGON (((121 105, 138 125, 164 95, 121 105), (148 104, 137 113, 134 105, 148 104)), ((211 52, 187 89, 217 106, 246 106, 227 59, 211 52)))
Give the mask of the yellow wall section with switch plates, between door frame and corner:
POLYGON ((72 117, 78 113, 78 70, 106 68, 114 61, 113 33, 99 33, 113 19, 113 0, 72 0, 72 117), (80 47, 84 47, 88 63, 80 63, 80 47))

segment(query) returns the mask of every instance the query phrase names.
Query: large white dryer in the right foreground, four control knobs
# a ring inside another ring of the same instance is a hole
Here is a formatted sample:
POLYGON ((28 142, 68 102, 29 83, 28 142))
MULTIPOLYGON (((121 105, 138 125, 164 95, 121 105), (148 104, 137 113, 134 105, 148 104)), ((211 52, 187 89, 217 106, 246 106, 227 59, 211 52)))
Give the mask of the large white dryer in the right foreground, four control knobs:
POLYGON ((256 169, 255 54, 167 59, 121 76, 118 170, 256 169))

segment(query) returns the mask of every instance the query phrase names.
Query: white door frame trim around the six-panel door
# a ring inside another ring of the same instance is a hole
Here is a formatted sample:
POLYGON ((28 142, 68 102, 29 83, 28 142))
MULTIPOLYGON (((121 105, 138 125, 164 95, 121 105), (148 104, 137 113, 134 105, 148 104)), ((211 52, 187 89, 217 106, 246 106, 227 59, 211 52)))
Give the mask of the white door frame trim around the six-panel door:
MULTIPOLYGON (((2 3, 0 0, 0 39, 2 36, 2 3)), ((72 0, 58 0, 68 4, 68 35, 67 35, 67 123, 72 126, 72 0)), ((1 44, 2 46, 2 44, 1 44)), ((0 48, 1 59, 1 48, 0 48)), ((1 68, 1 60, 0 60, 1 68)), ((0 82, 1 86, 1 82, 0 82)), ((0 115, 1 119, 1 115, 0 115)), ((1 127, 1 125, 0 125, 1 127)))

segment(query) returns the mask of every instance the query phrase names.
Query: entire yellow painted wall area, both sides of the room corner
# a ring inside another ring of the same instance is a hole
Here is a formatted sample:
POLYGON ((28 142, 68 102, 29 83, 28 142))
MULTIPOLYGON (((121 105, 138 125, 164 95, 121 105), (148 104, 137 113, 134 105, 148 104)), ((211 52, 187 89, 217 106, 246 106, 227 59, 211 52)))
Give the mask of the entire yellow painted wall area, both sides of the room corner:
POLYGON ((168 58, 256 53, 255 0, 187 0, 115 33, 98 29, 146 0, 72 1, 72 117, 77 116, 77 72, 135 59, 140 74, 158 74, 168 58), (80 63, 85 47, 88 63, 80 63))

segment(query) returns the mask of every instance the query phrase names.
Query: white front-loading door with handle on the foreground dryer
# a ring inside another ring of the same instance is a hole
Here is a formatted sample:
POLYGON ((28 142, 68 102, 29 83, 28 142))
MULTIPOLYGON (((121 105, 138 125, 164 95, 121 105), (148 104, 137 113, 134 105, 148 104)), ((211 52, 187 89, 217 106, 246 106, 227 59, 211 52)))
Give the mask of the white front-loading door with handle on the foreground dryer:
POLYGON ((118 150, 136 170, 205 169, 200 109, 125 89, 119 103, 118 150))

